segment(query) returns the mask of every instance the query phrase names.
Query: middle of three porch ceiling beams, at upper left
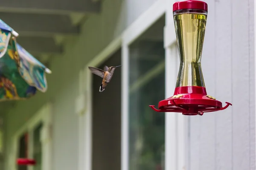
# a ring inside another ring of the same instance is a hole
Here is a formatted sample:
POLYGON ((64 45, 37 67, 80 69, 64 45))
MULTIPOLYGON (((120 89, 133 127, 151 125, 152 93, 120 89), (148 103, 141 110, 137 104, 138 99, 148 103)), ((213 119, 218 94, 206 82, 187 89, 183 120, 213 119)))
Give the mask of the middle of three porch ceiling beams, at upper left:
POLYGON ((0 12, 0 18, 20 36, 52 36, 79 34, 68 15, 0 12))

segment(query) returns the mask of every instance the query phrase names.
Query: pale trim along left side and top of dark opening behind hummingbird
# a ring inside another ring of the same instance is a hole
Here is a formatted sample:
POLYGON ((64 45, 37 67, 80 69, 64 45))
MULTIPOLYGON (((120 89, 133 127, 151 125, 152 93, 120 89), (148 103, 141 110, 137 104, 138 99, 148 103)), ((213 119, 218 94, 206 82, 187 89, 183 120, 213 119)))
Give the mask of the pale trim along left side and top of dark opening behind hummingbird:
POLYGON ((80 89, 80 91, 85 96, 87 105, 84 105, 84 109, 80 109, 82 113, 79 114, 81 116, 79 118, 79 170, 92 170, 92 75, 88 66, 98 67, 121 48, 121 44, 122 37, 117 37, 84 68, 86 89, 80 89))

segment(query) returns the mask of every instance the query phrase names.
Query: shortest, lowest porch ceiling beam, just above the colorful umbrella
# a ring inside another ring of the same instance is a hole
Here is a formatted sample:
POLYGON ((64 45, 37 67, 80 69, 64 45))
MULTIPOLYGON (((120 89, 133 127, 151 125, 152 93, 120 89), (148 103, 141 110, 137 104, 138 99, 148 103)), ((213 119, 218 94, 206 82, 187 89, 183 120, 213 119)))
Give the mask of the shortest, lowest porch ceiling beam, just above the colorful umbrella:
POLYGON ((62 48, 51 37, 17 37, 17 43, 33 55, 61 54, 62 48))

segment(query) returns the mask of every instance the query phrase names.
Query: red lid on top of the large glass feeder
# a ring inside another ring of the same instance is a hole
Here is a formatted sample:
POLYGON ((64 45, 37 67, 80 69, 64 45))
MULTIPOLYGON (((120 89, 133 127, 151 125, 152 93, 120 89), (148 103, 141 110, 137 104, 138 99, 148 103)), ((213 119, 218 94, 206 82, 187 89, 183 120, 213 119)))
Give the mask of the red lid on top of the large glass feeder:
POLYGON ((173 4, 173 11, 179 9, 201 9, 208 11, 207 3, 200 0, 184 0, 173 4))

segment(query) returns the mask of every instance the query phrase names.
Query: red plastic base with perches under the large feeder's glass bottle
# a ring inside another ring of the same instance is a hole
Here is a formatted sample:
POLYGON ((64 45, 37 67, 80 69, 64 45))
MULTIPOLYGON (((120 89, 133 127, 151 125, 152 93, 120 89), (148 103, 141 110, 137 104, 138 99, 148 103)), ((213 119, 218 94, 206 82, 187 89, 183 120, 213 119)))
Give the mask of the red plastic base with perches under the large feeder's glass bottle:
POLYGON ((199 86, 185 86, 175 88, 174 96, 158 103, 158 108, 150 105, 157 112, 177 112, 183 115, 203 115, 205 112, 221 111, 231 103, 222 107, 222 103, 207 95, 206 89, 199 86))

